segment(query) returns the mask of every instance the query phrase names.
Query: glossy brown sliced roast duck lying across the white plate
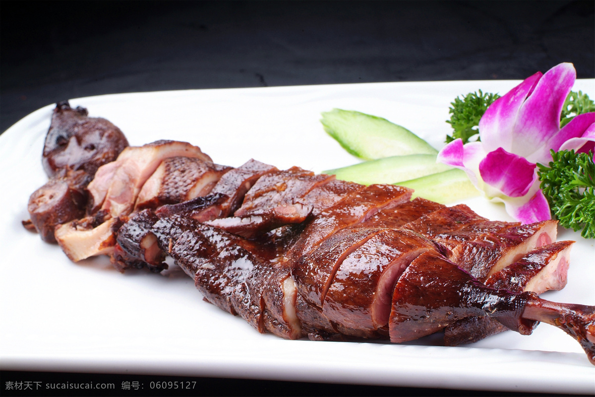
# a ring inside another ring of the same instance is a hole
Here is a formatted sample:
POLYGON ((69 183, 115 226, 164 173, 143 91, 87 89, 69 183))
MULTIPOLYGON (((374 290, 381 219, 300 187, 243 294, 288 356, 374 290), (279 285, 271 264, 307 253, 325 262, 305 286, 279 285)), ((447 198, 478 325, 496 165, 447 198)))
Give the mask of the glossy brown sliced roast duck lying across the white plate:
POLYGON ((105 254, 120 271, 159 272, 171 257, 206 301, 287 339, 405 342, 444 330, 457 345, 528 335, 542 321, 595 364, 595 308, 538 298, 566 284, 572 242, 556 242, 556 221, 490 221, 466 205, 411 200, 405 187, 255 160, 231 168, 189 143, 123 139, 102 165, 80 151, 54 161, 42 189, 60 198, 30 199, 35 228, 73 261, 105 254))

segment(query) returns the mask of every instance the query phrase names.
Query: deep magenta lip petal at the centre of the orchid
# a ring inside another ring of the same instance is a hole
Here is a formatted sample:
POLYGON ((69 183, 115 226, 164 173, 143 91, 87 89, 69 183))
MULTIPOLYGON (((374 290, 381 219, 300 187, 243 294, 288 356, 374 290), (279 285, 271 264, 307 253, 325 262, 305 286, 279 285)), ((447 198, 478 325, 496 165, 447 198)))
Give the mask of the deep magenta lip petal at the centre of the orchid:
POLYGON ((528 162, 524 157, 502 148, 488 153, 479 164, 483 181, 510 197, 527 194, 537 179, 535 167, 536 164, 528 162))

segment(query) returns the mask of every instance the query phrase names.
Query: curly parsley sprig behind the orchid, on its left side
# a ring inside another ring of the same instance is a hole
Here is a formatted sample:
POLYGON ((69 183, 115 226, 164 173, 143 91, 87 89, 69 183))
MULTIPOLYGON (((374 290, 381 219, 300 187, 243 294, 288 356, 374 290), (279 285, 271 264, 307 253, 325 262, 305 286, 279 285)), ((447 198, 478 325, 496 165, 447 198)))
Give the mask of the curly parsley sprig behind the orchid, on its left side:
POLYGON ((478 92, 469 92, 467 95, 463 95, 462 99, 457 96, 454 102, 450 102, 450 105, 452 105, 449 108, 451 116, 450 120, 446 122, 452 126, 453 133, 452 136, 446 136, 446 143, 457 138, 461 138, 463 143, 480 140, 479 136, 477 136, 477 139, 470 139, 479 133, 477 126, 480 123, 481 116, 486 112, 487 107, 498 98, 500 98, 500 95, 497 93, 483 93, 479 90, 478 92))

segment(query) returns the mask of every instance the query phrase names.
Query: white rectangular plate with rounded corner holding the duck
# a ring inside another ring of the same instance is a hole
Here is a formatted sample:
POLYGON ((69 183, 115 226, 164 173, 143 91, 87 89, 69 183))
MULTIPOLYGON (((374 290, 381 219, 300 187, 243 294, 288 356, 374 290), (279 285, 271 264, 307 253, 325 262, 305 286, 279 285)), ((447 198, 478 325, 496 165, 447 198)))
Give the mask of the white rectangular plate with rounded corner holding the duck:
MULTIPOLYGON (((449 104, 477 89, 503 94, 518 82, 425 82, 131 93, 71 100, 120 127, 131 145, 157 139, 201 146, 219 164, 250 158, 316 172, 354 164, 322 130, 332 108, 385 117, 443 145, 449 104)), ((574 89, 595 97, 594 80, 574 89)), ((595 367, 577 342, 541 324, 472 345, 312 342, 261 335, 239 317, 202 301, 181 272, 120 274, 107 258, 70 262, 56 245, 27 232, 29 195, 46 182, 43 140, 54 105, 0 136, 3 247, 0 362, 5 370, 175 374, 387 386, 531 392, 594 392, 595 367)), ((491 219, 511 220, 501 205, 465 201, 491 219)), ((593 240, 577 240, 568 286, 553 301, 595 304, 593 240)))

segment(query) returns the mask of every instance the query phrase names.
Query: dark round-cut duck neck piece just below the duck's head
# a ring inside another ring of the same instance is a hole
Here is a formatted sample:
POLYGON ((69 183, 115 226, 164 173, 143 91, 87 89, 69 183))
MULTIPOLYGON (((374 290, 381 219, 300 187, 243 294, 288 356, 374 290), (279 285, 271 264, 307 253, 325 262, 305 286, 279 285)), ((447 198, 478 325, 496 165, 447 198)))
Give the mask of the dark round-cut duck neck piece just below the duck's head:
POLYGON ((89 178, 84 171, 71 171, 64 177, 50 179, 30 196, 27 210, 43 241, 55 243, 54 230, 58 225, 84 216, 84 187, 89 178))

